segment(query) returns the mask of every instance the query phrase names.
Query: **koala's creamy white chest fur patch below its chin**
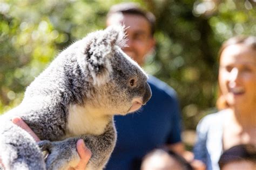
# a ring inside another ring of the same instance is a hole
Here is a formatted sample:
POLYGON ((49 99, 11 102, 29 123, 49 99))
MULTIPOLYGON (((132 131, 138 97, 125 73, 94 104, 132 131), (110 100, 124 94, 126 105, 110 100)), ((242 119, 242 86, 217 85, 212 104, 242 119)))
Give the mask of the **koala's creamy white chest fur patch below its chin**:
POLYGON ((111 117, 105 111, 90 106, 70 105, 65 137, 80 134, 102 134, 111 117))

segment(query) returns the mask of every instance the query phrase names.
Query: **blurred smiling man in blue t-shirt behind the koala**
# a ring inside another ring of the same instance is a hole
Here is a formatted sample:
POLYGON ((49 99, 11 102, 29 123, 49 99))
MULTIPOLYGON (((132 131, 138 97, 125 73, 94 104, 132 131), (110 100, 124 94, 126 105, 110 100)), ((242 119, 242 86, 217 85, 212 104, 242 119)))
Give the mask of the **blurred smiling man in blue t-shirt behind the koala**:
MULTIPOLYGON (((126 28, 127 46, 123 51, 143 66, 155 45, 155 17, 134 3, 113 5, 106 25, 121 24, 126 28)), ((139 169, 142 158, 153 148, 166 145, 184 153, 181 142, 181 119, 176 91, 156 77, 149 76, 152 90, 149 102, 137 113, 115 116, 117 144, 106 169, 139 169)))

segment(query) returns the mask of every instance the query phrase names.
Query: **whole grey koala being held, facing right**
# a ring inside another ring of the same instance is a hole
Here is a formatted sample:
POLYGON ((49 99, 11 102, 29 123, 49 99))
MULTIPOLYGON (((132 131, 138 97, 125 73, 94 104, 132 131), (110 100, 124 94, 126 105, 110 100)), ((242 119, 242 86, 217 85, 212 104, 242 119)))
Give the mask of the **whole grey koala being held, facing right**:
POLYGON ((6 169, 67 169, 77 165, 78 139, 103 169, 116 143, 113 115, 136 111, 151 97, 147 76, 127 56, 121 26, 90 33, 60 53, 26 88, 23 101, 0 117, 0 159, 6 169), (41 139, 11 122, 15 116, 41 139), (41 150, 48 150, 46 160, 41 150))

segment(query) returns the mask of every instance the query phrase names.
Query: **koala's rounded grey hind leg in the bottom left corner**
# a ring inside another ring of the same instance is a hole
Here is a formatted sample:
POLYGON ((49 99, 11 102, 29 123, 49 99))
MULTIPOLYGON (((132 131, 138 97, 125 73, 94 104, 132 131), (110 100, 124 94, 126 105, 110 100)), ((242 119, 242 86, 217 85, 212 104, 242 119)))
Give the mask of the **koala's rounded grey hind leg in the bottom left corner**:
POLYGON ((0 123, 0 159, 5 169, 45 169, 43 154, 30 134, 11 121, 0 123))

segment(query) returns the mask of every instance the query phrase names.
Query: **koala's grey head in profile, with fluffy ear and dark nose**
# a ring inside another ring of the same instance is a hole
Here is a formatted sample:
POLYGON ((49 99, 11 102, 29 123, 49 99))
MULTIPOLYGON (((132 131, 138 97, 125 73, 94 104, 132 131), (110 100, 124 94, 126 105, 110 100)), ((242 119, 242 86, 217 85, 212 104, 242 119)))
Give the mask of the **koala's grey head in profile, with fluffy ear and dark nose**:
POLYGON ((93 86, 87 103, 109 114, 124 115, 149 101, 151 89, 146 73, 121 49, 125 44, 122 26, 91 33, 84 41, 86 46, 78 62, 93 86))

